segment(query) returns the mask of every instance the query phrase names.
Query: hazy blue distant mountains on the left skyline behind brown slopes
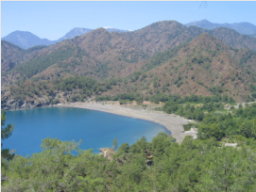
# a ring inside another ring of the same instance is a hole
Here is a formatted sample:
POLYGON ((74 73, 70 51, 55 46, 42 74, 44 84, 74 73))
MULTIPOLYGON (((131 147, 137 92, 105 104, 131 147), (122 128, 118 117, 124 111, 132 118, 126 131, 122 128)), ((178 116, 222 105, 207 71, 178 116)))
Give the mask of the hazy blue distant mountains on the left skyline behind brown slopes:
MULTIPOLYGON (((117 28, 111 28, 110 26, 104 27, 109 32, 118 32, 118 33, 124 33, 128 32, 128 30, 121 30, 117 28)), ((71 31, 69 31, 66 35, 64 35, 59 40, 47 40, 47 39, 41 39, 38 36, 28 32, 28 31, 14 31, 10 33, 8 36, 2 38, 1 40, 7 40, 23 49, 28 49, 33 46, 37 45, 51 45, 55 44, 57 42, 60 42, 61 40, 67 40, 75 38, 76 36, 84 35, 90 31, 93 31, 94 29, 89 28, 74 28, 71 31)))

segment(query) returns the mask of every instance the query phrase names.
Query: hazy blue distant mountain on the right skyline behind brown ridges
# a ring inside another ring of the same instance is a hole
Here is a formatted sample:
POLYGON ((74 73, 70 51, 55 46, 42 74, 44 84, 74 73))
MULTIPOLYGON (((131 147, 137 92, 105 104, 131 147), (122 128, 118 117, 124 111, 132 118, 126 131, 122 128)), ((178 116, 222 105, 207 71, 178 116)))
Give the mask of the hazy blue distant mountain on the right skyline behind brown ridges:
POLYGON ((191 23, 185 24, 185 25, 186 26, 195 25, 195 26, 199 26, 199 27, 206 28, 209 30, 223 26, 223 27, 228 27, 228 28, 234 29, 238 33, 241 33, 244 35, 256 34, 256 25, 249 24, 247 22, 238 23, 238 24, 237 23, 235 23, 235 24, 213 24, 207 20, 201 20, 201 21, 191 22, 191 23))

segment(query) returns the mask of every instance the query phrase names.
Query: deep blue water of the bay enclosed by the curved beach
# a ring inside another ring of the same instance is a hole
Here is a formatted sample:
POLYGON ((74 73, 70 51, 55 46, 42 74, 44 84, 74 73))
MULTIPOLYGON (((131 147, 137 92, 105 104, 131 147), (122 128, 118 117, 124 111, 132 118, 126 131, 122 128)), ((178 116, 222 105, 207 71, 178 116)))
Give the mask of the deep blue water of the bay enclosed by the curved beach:
POLYGON ((36 108, 7 111, 6 115, 6 125, 11 122, 15 128, 8 139, 2 140, 3 148, 23 156, 42 152, 42 139, 48 136, 76 142, 82 139, 80 149, 99 152, 100 148, 111 147, 114 138, 120 146, 135 143, 142 136, 151 141, 160 132, 170 134, 150 121, 81 108, 36 108))

